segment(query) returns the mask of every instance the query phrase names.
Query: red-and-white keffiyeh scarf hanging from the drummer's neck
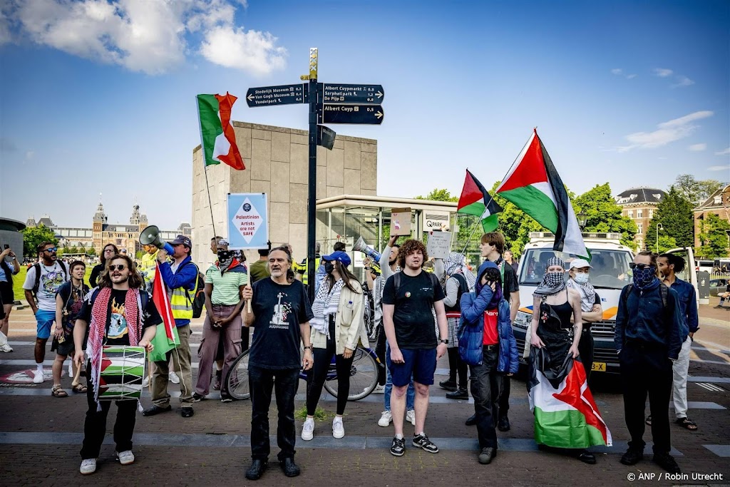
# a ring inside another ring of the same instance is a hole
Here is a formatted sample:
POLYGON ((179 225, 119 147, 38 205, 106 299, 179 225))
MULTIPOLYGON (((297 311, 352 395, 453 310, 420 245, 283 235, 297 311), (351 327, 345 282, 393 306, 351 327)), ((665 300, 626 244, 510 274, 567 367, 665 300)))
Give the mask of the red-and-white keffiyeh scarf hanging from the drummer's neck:
MULTIPOLYGON (((91 293, 87 295, 91 299, 91 293)), ((91 308, 91 323, 89 324, 88 356, 91 361, 91 383, 93 385, 93 399, 96 410, 101 411, 99 404, 99 377, 101 377, 101 347, 104 345, 107 320, 109 319, 109 299, 112 288, 101 288, 91 308)), ((129 345, 136 347, 139 343, 139 334, 142 329, 139 319, 142 300, 138 289, 130 289, 124 298, 124 313, 127 321, 127 336, 129 345)))

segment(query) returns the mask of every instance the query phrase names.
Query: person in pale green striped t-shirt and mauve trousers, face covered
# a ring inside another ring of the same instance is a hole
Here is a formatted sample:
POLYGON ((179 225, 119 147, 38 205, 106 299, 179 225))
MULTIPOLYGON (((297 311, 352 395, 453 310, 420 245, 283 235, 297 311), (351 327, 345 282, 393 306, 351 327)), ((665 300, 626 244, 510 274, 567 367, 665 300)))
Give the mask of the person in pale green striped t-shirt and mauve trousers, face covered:
MULTIPOLYGON (((193 393, 193 401, 207 399, 210 391, 210 371, 218 343, 223 341, 223 372, 241 354, 241 294, 248 282, 246 269, 237 250, 228 250, 228 240, 219 239, 217 245, 218 261, 205 272, 205 321, 203 340, 198 349, 200 358, 198 381, 193 393)), ((246 330, 248 331, 248 330, 246 330)), ((220 385, 220 400, 231 402, 226 390, 226 381, 220 385)))

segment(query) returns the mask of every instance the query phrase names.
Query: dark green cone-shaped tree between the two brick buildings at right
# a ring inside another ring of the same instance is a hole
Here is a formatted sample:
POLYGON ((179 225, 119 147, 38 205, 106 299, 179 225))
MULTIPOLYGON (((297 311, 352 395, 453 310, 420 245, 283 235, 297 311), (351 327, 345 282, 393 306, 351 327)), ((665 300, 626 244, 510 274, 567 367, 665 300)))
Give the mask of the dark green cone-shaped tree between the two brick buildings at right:
MULTIPOLYGON (((676 186, 669 187, 666 196, 659 202, 646 229, 646 245, 648 249, 656 250, 656 226, 661 223, 659 230, 659 250, 662 248, 662 235, 672 239, 675 247, 691 247, 694 245, 694 214, 692 203, 686 199, 682 191, 676 186)), ((668 241, 667 241, 668 242, 668 241)), ((665 248, 664 250, 669 250, 665 248)))

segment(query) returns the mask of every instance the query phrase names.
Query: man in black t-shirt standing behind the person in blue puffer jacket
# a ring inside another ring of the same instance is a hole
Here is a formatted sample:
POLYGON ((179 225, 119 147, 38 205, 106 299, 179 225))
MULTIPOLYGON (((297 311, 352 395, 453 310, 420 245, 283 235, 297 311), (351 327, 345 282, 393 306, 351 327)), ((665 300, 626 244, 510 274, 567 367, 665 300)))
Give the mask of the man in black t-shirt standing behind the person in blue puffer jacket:
MULTIPOLYGON (((510 322, 514 323, 517 312, 520 310, 520 285, 515 269, 502 258, 506 247, 504 235, 499 231, 491 231, 483 234, 480 242, 482 257, 493 262, 499 267, 502 275, 502 292, 504 299, 510 302, 510 322)), ((502 394, 499 395, 499 418, 497 429, 501 432, 510 431, 510 418, 507 413, 510 411, 510 377, 502 377, 502 394)), ((476 417, 472 416, 466 420, 466 424, 476 424, 476 417)))

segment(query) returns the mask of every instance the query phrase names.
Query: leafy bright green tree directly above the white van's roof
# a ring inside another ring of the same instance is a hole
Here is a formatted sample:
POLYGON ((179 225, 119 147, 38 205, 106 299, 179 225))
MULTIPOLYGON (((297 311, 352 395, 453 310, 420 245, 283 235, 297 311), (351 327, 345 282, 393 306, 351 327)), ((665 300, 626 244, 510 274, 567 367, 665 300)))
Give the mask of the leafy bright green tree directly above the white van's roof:
POLYGON ((587 216, 584 231, 620 232, 621 243, 634 248, 634 235, 637 226, 631 218, 621 215, 621 207, 611 196, 609 183, 596 185, 573 200, 576 214, 587 216))

